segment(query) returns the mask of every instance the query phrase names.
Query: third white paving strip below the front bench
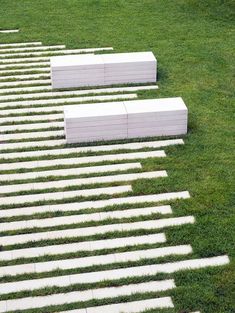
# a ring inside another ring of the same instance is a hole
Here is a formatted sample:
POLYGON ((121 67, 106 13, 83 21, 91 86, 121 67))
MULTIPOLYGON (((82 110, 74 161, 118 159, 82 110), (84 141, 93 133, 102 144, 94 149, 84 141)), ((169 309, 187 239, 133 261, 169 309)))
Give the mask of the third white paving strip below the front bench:
MULTIPOLYGON (((89 167, 78 167, 78 168, 67 168, 61 170, 50 170, 43 172, 28 172, 28 173, 17 173, 17 174, 6 174, 0 175, 0 181, 12 181, 12 180, 27 180, 35 179, 40 177, 55 177, 55 176, 75 176, 82 174, 93 174, 93 173, 106 173, 114 171, 126 171, 130 169, 141 169, 141 164, 138 163, 123 163, 123 164, 112 164, 112 165, 100 165, 100 166, 89 166, 89 167)), ((21 186, 21 185, 20 185, 21 186)))

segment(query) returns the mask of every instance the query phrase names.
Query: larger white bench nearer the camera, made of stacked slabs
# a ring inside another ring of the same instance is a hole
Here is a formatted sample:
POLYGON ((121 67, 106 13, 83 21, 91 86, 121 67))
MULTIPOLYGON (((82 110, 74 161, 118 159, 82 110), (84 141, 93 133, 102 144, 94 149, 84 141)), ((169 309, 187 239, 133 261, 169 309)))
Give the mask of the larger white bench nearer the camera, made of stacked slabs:
POLYGON ((188 110, 182 98, 106 102, 64 108, 67 143, 183 135, 188 110))

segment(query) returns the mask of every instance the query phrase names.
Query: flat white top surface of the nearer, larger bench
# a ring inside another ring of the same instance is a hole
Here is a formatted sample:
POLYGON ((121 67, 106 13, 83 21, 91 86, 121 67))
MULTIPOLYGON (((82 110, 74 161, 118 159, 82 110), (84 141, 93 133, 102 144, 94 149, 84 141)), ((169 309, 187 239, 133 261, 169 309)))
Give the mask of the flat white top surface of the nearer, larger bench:
POLYGON ((128 114, 170 111, 187 112, 187 107, 181 97, 70 105, 64 107, 64 117, 65 119, 102 116, 125 117, 128 114))

